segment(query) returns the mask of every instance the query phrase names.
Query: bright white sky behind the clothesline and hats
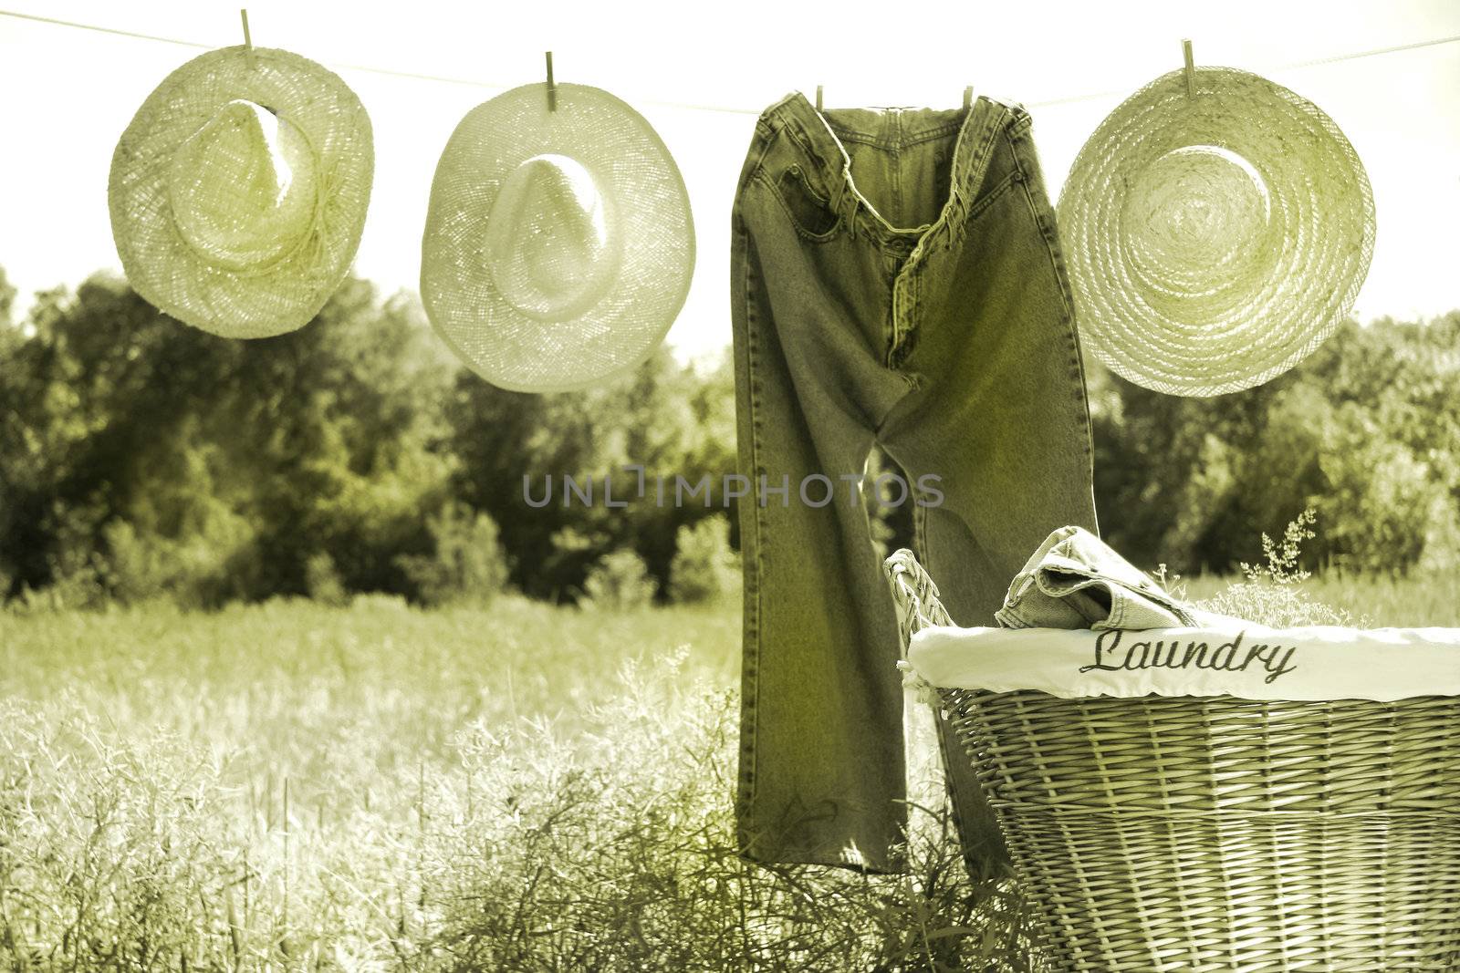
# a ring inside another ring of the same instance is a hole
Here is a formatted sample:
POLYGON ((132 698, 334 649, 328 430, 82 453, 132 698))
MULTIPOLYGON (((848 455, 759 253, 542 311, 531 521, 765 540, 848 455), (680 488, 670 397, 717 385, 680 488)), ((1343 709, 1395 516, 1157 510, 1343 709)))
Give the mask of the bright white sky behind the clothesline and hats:
MULTIPOLYGON (((0 0, 0 9, 226 47, 238 3, 0 0)), ((543 77, 607 89, 658 130, 689 187, 699 260, 670 331, 682 353, 730 341, 730 206, 755 117, 825 86, 831 108, 956 106, 965 85, 1034 115, 1051 197, 1080 144, 1123 98, 1181 64, 1253 70, 1324 109, 1368 168, 1378 238, 1355 308, 1429 317, 1460 308, 1460 44, 1286 69, 1460 35, 1460 1, 901 3, 740 0, 607 3, 302 3, 251 0, 254 44, 336 70, 375 130, 375 185, 355 268, 416 289, 437 159, 457 121, 543 77), (895 13, 894 13, 895 12, 895 13), (353 70, 366 66, 479 82, 353 70), (1108 92, 1072 104, 1041 102, 1108 92), (704 111, 683 105, 715 106, 704 111)), ((196 48, 0 16, 0 267, 22 290, 120 270, 107 216, 117 137, 196 48)))

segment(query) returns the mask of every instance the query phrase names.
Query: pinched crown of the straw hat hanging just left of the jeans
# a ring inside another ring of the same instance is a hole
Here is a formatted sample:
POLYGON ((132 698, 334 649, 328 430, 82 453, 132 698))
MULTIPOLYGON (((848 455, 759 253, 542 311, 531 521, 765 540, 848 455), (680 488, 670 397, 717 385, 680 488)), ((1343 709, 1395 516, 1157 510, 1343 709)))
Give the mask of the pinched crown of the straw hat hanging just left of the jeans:
POLYGON ((492 283, 523 314, 564 321, 607 293, 619 260, 609 197, 564 155, 526 159, 502 181, 486 219, 492 283))

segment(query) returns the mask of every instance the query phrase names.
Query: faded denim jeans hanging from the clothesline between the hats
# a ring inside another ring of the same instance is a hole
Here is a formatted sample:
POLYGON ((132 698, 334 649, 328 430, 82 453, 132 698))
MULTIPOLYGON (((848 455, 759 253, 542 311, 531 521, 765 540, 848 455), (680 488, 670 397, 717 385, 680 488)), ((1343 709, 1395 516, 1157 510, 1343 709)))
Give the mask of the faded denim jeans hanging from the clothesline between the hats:
MULTIPOLYGON (((875 442, 901 467, 917 556, 964 626, 993 624, 1051 530, 1095 528, 1085 372, 1029 115, 990 98, 780 101, 742 169, 730 268, 752 484, 742 853, 898 871, 898 624, 848 483, 875 442)), ((972 767, 946 724, 940 735, 969 865, 1000 864, 972 767)))

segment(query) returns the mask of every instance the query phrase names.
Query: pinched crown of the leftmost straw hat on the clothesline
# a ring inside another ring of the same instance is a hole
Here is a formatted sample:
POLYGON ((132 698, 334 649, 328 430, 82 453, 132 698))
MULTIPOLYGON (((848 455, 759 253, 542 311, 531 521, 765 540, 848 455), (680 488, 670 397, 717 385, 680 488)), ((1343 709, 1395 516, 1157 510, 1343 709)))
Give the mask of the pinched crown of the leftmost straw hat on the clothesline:
POLYGON ((320 174, 288 118, 234 99, 172 155, 168 200, 178 233, 207 264, 266 270, 314 228, 320 174))

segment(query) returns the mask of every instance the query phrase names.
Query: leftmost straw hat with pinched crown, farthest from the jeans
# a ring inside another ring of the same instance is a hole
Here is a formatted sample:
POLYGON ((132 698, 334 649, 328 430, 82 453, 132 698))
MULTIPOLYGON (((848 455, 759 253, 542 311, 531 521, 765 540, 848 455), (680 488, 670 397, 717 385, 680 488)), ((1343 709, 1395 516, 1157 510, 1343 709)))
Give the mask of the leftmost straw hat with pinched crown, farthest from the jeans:
POLYGON ((298 54, 242 47, 177 69, 111 159, 131 286, 231 338, 307 324, 349 271, 374 171, 365 108, 298 54))

